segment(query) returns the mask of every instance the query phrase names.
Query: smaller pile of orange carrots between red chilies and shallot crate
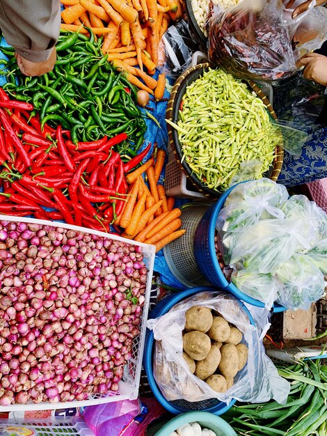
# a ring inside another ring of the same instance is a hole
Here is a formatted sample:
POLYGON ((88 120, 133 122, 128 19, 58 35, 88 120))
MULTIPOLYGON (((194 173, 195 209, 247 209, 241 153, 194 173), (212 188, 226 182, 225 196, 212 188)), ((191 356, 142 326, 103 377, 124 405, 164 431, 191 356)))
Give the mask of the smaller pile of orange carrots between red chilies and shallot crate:
POLYGON ((166 197, 163 185, 158 185, 165 158, 166 152, 160 149, 155 163, 151 158, 127 175, 129 199, 115 220, 124 229, 122 237, 154 244, 156 252, 185 233, 180 230, 181 210, 174 208, 174 198, 166 197), (145 173, 150 189, 143 179, 145 173))

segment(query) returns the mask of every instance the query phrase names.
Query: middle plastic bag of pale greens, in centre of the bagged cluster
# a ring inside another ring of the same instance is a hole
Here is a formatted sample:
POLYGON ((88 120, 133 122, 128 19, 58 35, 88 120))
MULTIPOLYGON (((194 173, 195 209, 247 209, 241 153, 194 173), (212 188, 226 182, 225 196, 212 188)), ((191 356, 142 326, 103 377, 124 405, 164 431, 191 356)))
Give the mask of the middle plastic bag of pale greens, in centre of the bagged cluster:
POLYGON ((248 272, 273 274, 300 249, 309 249, 300 221, 264 219, 239 234, 230 264, 243 263, 248 272))

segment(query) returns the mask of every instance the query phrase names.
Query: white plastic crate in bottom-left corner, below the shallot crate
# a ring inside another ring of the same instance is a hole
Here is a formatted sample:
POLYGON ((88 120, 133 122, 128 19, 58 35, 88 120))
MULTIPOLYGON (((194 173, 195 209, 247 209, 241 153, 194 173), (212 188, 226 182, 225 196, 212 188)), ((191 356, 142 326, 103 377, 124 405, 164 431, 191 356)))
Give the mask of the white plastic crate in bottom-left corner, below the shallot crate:
POLYGON ((95 436, 80 418, 0 419, 1 436, 16 434, 26 436, 95 436))

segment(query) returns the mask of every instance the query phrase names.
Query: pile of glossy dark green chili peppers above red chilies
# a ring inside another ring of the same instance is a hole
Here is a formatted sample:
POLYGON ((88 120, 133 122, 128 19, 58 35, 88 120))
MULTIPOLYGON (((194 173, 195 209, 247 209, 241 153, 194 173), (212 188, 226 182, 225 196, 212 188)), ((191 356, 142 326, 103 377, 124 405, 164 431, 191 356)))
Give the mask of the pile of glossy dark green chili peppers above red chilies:
POLYGON ((72 141, 95 141, 125 132, 123 153, 133 155, 143 143, 146 124, 136 106, 136 89, 116 71, 101 51, 102 38, 61 32, 54 70, 41 77, 24 76, 11 47, 0 47, 7 83, 3 89, 16 100, 33 104, 42 125, 61 124, 72 141), (134 152, 134 153, 133 153, 134 152))

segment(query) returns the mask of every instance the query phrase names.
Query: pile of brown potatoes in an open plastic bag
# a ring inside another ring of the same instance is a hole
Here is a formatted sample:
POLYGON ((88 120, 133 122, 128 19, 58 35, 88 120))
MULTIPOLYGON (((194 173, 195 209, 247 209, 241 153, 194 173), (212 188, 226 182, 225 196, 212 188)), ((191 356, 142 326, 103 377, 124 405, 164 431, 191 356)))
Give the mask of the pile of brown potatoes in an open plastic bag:
POLYGON ((191 373, 214 391, 227 391, 248 360, 243 334, 205 306, 193 306, 185 316, 183 357, 191 373))

